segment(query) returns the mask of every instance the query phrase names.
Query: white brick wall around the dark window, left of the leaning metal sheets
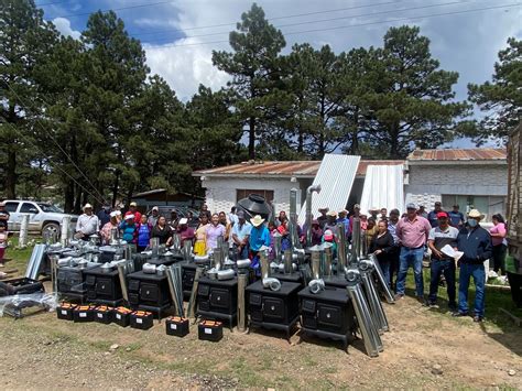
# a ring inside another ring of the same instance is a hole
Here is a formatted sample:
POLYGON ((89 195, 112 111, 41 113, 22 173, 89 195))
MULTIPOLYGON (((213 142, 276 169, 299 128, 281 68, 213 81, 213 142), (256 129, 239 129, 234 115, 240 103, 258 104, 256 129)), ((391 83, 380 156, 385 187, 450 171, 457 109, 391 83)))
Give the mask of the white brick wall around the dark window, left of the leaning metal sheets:
MULTIPOLYGON (((206 188, 206 203, 210 211, 230 211, 239 199, 236 199, 238 189, 267 189, 274 192, 273 204, 275 213, 280 210, 290 211, 291 188, 302 189, 298 182, 291 182, 290 178, 216 178, 207 177, 202 182, 206 188)), ((297 193, 300 194, 300 193, 297 193)), ((297 200, 297 210, 301 209, 301 202, 297 200)))

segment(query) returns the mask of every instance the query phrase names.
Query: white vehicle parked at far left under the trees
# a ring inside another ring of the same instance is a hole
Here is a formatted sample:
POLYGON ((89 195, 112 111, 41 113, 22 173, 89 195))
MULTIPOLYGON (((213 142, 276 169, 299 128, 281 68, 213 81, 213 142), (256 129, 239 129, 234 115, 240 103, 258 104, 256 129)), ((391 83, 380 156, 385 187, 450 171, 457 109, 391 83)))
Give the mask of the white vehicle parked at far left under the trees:
POLYGON ((6 199, 6 210, 9 211, 9 230, 19 231, 22 222, 22 215, 29 214, 29 232, 44 235, 54 232, 59 236, 59 226, 65 216, 70 216, 70 226, 76 227, 78 216, 67 215, 56 206, 47 203, 40 203, 25 199, 6 199))

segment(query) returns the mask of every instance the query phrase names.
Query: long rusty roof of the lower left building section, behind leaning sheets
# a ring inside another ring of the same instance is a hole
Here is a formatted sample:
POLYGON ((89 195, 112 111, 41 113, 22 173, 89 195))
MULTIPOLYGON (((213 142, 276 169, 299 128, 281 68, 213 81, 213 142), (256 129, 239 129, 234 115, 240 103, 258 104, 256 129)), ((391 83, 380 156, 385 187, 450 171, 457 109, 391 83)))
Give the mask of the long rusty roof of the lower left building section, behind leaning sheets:
MULTIPOLYGON (((361 160, 357 167, 357 175, 366 174, 368 164, 372 165, 395 165, 403 164, 403 160, 361 160)), ((194 175, 208 176, 297 176, 315 177, 319 170, 320 161, 287 161, 287 162, 244 162, 222 167, 196 171, 194 175)))

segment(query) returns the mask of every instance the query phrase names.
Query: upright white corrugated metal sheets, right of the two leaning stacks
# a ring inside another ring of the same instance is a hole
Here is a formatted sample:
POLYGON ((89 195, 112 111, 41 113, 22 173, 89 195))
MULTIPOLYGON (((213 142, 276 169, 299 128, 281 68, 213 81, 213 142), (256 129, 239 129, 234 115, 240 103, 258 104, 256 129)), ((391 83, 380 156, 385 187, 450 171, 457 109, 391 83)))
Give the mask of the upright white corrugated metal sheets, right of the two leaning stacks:
POLYGON ((360 206, 361 213, 372 207, 404 211, 404 165, 369 165, 360 206))

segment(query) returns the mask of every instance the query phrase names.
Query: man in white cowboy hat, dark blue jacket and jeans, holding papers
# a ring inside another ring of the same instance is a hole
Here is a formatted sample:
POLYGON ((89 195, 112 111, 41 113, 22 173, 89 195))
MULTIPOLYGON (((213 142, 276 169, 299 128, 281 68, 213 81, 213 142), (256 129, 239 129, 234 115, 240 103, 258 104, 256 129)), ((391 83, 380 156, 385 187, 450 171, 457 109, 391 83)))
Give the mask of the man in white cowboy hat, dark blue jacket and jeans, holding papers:
POLYGON ((455 316, 468 315, 468 287, 472 276, 475 283, 474 322, 482 322, 485 307, 486 269, 483 262, 492 256, 491 237, 480 227, 483 215, 477 209, 468 214, 466 226, 457 236, 457 249, 464 252, 459 259, 460 273, 458 279, 458 312, 455 316))

